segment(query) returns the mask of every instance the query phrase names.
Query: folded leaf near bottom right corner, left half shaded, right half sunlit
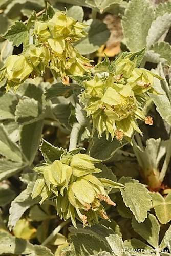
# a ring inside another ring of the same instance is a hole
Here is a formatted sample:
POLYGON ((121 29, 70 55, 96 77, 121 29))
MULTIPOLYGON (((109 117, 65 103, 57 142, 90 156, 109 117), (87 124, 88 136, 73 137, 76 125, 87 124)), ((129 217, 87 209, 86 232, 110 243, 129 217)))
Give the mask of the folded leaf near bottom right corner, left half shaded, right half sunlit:
POLYGON ((148 217, 143 223, 138 223, 135 218, 132 220, 132 226, 143 239, 145 239, 154 248, 158 248, 160 225, 153 214, 148 214, 148 217))

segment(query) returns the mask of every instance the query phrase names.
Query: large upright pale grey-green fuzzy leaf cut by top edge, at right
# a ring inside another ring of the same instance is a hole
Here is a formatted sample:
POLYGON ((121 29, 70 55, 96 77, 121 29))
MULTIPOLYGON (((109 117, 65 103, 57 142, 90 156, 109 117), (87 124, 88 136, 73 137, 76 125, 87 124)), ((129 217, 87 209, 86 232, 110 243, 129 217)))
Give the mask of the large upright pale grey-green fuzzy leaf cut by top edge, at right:
POLYGON ((148 29, 151 27, 155 13, 148 0, 131 0, 122 19, 126 46, 136 52, 146 46, 148 29))

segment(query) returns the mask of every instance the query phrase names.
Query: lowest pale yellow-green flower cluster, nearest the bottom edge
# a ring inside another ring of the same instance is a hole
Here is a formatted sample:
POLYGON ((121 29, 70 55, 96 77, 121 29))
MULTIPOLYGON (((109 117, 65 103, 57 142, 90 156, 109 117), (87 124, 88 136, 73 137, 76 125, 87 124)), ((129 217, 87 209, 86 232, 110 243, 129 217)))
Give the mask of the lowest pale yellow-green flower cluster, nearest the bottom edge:
POLYGON ((115 205, 108 193, 118 183, 94 176, 101 172, 95 166, 99 162, 101 160, 78 153, 63 155, 52 164, 35 167, 39 176, 32 198, 39 196, 40 204, 45 200, 54 200, 60 218, 71 218, 74 226, 75 218, 84 226, 98 222, 98 217, 108 219, 101 202, 115 205))

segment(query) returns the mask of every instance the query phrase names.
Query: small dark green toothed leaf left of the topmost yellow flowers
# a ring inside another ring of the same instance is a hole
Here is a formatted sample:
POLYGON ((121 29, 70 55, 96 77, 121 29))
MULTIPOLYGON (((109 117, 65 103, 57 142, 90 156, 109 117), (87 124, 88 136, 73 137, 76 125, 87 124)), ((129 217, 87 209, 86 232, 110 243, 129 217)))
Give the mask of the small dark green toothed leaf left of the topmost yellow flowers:
POLYGON ((17 20, 3 37, 13 42, 13 46, 19 46, 26 40, 28 35, 27 26, 22 21, 17 20))

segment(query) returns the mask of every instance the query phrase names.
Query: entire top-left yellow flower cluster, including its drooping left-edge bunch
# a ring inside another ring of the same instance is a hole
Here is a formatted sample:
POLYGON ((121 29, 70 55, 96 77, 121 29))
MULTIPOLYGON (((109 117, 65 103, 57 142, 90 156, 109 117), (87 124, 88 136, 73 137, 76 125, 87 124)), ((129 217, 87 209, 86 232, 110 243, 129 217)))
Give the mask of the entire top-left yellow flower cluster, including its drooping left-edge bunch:
POLYGON ((0 80, 7 78, 7 87, 17 89, 27 78, 42 75, 50 68, 55 78, 60 77, 68 85, 68 75, 90 72, 92 61, 81 56, 72 45, 87 35, 86 26, 60 11, 47 22, 37 20, 33 29, 35 44, 20 55, 7 58, 0 80))

